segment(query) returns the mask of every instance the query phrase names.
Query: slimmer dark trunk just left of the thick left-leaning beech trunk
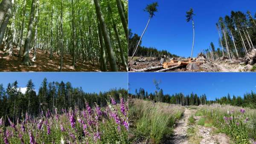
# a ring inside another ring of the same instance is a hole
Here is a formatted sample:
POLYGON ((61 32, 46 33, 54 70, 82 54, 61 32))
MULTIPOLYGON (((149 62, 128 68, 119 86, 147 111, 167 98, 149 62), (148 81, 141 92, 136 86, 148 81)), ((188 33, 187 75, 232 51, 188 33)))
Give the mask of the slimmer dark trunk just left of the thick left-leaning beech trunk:
POLYGON ((103 43, 103 36, 102 36, 102 30, 99 26, 98 22, 98 29, 99 29, 99 44, 100 44, 100 55, 101 55, 101 65, 102 65, 102 71, 107 71, 107 63, 106 63, 106 54, 105 54, 105 48, 103 43))

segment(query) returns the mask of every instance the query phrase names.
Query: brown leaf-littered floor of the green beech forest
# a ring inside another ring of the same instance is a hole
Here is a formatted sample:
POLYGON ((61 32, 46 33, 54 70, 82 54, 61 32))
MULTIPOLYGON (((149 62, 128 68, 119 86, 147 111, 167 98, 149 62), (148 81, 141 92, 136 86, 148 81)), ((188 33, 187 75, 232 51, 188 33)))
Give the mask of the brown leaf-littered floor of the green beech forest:
MULTIPOLYGON (((37 49, 36 60, 32 62, 32 66, 24 66, 21 60, 18 60, 18 49, 13 49, 13 56, 0 50, 0 71, 1 72, 58 72, 60 69, 60 55, 52 54, 52 59, 49 59, 49 52, 37 49)), ((33 51, 29 54, 30 60, 33 58, 33 51)), ((75 68, 72 66, 72 56, 64 55, 63 57, 63 72, 100 72, 98 61, 85 61, 79 59, 76 61, 75 68)), ((110 66, 107 66, 110 69, 110 66)), ((125 71, 125 67, 119 67, 119 71, 125 71)))

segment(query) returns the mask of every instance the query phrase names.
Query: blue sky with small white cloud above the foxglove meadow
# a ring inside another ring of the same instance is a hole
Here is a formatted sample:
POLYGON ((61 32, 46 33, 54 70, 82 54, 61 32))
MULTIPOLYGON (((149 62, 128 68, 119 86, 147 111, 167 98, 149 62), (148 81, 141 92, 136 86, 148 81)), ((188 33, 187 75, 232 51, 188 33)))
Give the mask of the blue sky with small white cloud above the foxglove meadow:
POLYGON ((35 84, 38 92, 44 78, 48 82, 70 82, 73 87, 82 87, 84 92, 104 92, 112 88, 127 89, 126 72, 0 72, 0 84, 6 88, 8 83, 17 80, 19 87, 26 87, 29 79, 35 84))

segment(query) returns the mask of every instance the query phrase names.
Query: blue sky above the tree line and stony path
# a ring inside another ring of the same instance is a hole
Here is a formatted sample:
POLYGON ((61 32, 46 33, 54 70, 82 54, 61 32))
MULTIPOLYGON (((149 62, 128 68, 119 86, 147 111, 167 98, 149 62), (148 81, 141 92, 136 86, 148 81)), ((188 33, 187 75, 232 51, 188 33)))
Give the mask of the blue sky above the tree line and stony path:
POLYGON ((159 87, 164 94, 191 92, 206 94, 207 99, 214 100, 230 95, 243 96, 246 92, 256 92, 256 73, 129 73, 129 89, 144 88, 145 91, 156 90, 153 80, 161 81, 159 87))

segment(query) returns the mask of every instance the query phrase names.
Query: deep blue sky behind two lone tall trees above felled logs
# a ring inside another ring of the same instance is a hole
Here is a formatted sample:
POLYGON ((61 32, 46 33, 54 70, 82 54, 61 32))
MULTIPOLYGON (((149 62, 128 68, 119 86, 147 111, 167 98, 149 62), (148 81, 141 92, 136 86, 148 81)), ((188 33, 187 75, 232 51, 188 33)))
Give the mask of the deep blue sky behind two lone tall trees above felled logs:
POLYGON ((211 42, 218 46, 215 23, 219 17, 233 11, 256 12, 256 0, 129 0, 129 29, 141 35, 148 21, 143 9, 158 2, 158 12, 151 19, 142 39, 142 46, 166 49, 172 54, 188 57, 192 48, 192 22, 186 22, 186 11, 194 9, 194 55, 209 48, 211 42))

